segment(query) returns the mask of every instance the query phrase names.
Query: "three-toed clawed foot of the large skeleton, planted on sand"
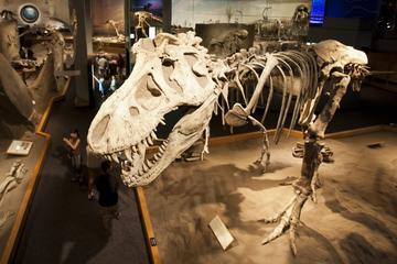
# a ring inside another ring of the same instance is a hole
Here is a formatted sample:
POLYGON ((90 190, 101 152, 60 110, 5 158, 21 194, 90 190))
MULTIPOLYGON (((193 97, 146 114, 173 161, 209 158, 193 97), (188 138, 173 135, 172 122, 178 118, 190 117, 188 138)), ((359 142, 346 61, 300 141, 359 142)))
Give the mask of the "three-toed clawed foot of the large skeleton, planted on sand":
POLYGON ((292 253, 297 255, 297 244, 296 244, 296 233, 297 233, 297 227, 300 221, 300 213, 302 211, 303 205, 307 201, 308 196, 300 193, 297 194, 279 212, 277 216, 275 216, 271 219, 262 219, 260 221, 264 221, 265 223, 278 223, 278 226, 273 229, 273 231, 268 234, 262 241, 261 244, 267 244, 280 235, 282 235, 285 232, 289 230, 289 239, 290 239, 290 246, 292 250, 292 253))

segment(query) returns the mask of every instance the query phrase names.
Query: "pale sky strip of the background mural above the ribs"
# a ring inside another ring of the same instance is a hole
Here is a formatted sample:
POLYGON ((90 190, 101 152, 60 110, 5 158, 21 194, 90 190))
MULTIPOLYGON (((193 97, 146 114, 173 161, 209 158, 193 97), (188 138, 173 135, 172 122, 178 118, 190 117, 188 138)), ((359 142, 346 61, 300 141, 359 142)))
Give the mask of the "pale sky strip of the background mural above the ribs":
POLYGON ((232 23, 255 23, 264 13, 270 19, 289 19, 301 3, 310 8, 311 0, 172 0, 172 23, 183 26, 226 23, 227 8, 233 12, 232 23))

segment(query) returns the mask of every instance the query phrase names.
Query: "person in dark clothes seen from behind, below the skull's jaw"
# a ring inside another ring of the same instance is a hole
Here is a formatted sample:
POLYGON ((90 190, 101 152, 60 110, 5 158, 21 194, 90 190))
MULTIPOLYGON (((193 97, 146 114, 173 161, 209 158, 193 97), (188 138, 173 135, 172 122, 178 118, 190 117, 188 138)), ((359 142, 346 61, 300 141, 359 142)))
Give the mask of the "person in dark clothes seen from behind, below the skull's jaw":
POLYGON ((98 204, 101 208, 101 217, 106 229, 110 229, 111 219, 119 219, 118 211, 118 184, 110 175, 111 163, 104 161, 100 164, 103 174, 95 179, 98 191, 98 204))

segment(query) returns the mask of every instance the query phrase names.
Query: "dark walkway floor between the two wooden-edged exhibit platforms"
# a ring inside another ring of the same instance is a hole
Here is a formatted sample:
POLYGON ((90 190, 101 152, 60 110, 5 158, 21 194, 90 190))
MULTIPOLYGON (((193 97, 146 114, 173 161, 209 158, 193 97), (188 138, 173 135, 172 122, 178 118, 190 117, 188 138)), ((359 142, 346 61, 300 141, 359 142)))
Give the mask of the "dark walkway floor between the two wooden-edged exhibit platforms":
POLYGON ((96 109, 76 109, 73 88, 54 105, 46 132, 52 135, 19 248, 12 263, 149 263, 136 197, 120 185, 120 220, 106 231, 96 201, 71 182, 62 139, 77 128, 85 139, 96 109))

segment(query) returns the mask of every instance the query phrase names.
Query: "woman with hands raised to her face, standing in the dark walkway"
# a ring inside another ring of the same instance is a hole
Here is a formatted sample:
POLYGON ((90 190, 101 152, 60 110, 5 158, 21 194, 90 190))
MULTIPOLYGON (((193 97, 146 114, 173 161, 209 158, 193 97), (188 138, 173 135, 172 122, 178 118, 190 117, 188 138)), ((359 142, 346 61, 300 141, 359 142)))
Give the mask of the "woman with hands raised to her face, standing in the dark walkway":
POLYGON ((68 156, 72 161, 72 167, 74 168, 74 175, 72 177, 72 182, 79 180, 83 183, 82 177, 82 154, 81 154, 81 138, 78 134, 78 130, 75 129, 69 134, 69 138, 64 138, 63 141, 66 144, 68 150, 68 156))

